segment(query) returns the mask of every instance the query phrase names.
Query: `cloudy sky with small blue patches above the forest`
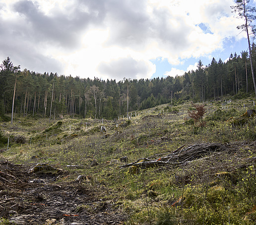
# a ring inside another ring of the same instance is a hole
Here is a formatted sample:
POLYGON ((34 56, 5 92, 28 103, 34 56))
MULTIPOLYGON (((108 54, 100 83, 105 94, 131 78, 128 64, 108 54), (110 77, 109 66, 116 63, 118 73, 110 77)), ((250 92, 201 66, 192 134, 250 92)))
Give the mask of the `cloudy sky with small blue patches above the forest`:
MULTIPOLYGON (((251 0, 256 6, 256 0, 251 0)), ((103 80, 183 75, 247 51, 234 0, 0 0, 0 61, 103 80)))

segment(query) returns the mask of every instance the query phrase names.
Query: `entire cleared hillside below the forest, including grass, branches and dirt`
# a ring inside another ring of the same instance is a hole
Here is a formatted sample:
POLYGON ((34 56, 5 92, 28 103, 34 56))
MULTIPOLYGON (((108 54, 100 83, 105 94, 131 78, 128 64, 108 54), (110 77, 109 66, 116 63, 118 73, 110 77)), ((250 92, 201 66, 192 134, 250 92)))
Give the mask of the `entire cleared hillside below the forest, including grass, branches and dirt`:
POLYGON ((0 123, 1 224, 256 224, 253 98, 0 123))

